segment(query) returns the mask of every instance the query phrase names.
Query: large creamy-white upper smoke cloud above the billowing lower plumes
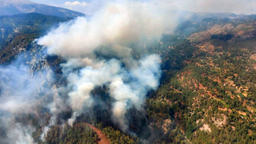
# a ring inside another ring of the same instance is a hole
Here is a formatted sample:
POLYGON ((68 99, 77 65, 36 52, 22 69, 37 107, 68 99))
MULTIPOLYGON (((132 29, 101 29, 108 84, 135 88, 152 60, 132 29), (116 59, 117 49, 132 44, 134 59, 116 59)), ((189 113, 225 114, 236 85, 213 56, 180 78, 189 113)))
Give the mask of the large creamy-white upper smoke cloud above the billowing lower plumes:
MULTIPOLYGON (((92 57, 93 51, 100 46, 125 46, 143 38, 159 38, 168 28, 175 26, 175 19, 166 19, 166 13, 156 8, 148 3, 110 3, 90 20, 79 17, 61 24, 40 38, 38 44, 47 46, 49 54, 66 58, 92 57)), ((118 49, 124 50, 125 47, 115 47, 115 51, 118 49)))

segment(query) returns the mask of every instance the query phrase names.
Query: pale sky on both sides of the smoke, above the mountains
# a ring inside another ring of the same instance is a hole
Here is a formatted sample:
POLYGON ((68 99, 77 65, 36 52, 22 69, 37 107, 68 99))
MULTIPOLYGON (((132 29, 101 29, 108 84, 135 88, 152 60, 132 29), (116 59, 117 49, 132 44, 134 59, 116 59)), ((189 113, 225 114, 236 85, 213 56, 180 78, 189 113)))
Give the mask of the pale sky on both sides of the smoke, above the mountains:
MULTIPOLYGON (((88 15, 93 14, 108 1, 122 0, 30 0, 36 3, 68 8, 88 15)), ((145 0, 133 0, 145 1, 145 0)), ((148 0, 149 1, 149 0, 148 0)), ((256 0, 151 0, 165 8, 189 12, 220 12, 256 14, 256 0)))

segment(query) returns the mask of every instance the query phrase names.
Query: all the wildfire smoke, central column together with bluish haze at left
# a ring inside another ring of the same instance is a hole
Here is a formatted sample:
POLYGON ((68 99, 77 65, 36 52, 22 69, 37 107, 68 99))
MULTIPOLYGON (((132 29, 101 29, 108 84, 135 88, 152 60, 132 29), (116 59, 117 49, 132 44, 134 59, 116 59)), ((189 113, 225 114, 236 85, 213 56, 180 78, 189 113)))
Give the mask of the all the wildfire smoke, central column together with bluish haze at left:
POLYGON ((143 111, 145 96, 157 89, 161 77, 160 56, 145 54, 140 45, 159 40, 176 26, 177 17, 154 3, 124 1, 107 3, 93 17, 78 17, 52 29, 36 42, 47 54, 65 60, 61 70, 67 85, 54 84, 44 56, 1 66, 0 142, 34 143, 36 127, 42 128, 43 138, 51 125, 73 124, 98 102, 92 91, 100 86, 108 88, 111 120, 129 131, 127 111, 143 111), (60 118, 70 108, 72 116, 60 118), (38 124, 31 124, 35 119, 38 124))

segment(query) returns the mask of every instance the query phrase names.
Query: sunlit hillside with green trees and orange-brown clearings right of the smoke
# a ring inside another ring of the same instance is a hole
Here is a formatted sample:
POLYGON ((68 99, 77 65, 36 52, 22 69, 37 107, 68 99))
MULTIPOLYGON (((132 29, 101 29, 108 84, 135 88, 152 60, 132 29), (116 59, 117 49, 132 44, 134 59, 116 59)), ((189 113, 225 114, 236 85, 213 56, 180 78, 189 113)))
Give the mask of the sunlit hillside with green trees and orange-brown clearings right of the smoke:
POLYGON ((164 129, 159 141, 177 143, 181 131, 184 143, 255 143, 256 23, 246 19, 194 22, 197 33, 166 36, 157 46, 164 52, 152 48, 164 60, 163 84, 147 102, 164 129))

